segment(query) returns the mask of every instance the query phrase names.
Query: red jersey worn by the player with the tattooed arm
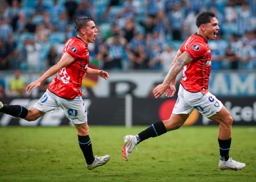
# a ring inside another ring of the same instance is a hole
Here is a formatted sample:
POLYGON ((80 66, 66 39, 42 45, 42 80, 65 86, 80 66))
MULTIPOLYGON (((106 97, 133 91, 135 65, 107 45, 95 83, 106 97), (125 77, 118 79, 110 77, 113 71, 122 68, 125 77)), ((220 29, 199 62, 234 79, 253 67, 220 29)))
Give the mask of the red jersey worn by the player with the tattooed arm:
POLYGON ((192 34, 180 47, 180 51, 186 51, 193 59, 183 67, 182 86, 189 92, 207 93, 212 64, 207 41, 197 33, 192 34))

